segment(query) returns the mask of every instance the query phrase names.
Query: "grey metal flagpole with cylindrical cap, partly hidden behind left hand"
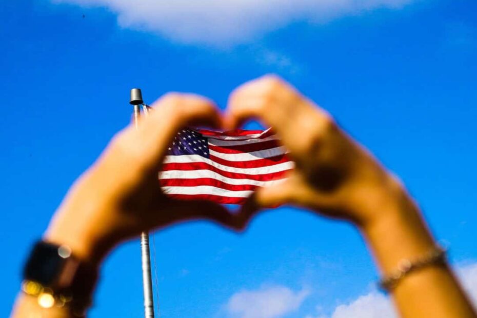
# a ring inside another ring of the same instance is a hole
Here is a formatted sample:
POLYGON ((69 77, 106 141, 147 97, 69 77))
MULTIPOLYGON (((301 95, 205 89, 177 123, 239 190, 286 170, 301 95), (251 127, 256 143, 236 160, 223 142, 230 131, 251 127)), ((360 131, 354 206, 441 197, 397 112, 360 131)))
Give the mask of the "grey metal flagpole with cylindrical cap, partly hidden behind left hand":
MULTIPOLYGON (((129 104, 133 105, 133 121, 136 126, 141 115, 141 105, 144 104, 141 89, 131 89, 129 104)), ((152 294, 151 253, 149 249, 149 233, 141 233, 141 263, 143 268, 144 317, 154 318, 154 296, 152 294)))

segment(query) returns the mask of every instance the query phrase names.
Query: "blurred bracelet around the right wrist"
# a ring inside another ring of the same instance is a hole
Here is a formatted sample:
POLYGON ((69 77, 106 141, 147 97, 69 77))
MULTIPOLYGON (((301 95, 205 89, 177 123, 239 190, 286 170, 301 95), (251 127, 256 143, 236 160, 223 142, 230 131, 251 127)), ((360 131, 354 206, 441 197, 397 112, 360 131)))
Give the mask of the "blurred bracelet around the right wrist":
POLYGON ((446 264, 446 251, 442 247, 437 246, 415 260, 401 260, 398 264, 398 268, 381 279, 379 286, 384 291, 390 292, 410 272, 430 265, 443 264, 446 264))

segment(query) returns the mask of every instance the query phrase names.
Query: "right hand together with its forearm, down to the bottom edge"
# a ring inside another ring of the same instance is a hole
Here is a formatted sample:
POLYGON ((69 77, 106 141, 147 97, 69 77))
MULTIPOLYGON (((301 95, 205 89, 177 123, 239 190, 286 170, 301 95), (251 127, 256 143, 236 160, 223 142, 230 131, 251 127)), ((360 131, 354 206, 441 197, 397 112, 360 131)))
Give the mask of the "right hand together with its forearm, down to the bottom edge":
MULTIPOLYGON (((230 95, 225 126, 238 127, 251 117, 275 129, 296 167, 284 183, 250 197, 244 222, 260 208, 286 203, 351 220, 384 273, 435 248, 401 183, 290 85, 265 76, 238 87, 230 95)), ((393 297, 403 317, 475 317, 449 268, 439 264, 406 275, 393 297)))

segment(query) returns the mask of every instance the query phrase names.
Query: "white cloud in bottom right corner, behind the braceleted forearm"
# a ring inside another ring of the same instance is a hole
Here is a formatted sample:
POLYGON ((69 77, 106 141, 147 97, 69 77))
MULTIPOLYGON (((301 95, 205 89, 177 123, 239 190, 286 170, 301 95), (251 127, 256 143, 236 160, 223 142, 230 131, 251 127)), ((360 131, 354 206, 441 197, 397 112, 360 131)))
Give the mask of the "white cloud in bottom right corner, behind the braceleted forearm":
MULTIPOLYGON (((475 307, 477 307, 477 263, 456 269, 459 280, 475 307)), ((349 304, 337 306, 331 316, 316 318, 397 318, 390 300, 376 291, 359 296, 349 304)), ((307 316, 306 318, 313 318, 307 316)))

